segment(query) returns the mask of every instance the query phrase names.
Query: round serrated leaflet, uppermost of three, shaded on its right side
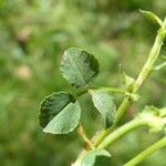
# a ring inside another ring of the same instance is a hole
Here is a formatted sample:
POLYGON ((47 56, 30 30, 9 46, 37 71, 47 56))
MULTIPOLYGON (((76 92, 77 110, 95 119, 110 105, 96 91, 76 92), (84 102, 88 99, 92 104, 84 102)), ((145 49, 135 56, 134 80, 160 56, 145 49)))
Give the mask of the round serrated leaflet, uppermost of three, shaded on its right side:
POLYGON ((86 51, 71 48, 64 52, 61 71, 70 84, 82 87, 97 75, 98 62, 86 51))

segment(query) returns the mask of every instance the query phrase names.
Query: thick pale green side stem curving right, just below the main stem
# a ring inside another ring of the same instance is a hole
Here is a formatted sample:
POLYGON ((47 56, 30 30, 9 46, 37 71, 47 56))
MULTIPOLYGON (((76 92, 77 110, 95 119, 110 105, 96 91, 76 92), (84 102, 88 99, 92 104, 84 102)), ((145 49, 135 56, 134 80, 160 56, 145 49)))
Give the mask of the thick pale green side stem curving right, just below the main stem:
POLYGON ((110 135, 107 135, 103 139, 103 142, 98 145, 97 148, 105 148, 105 147, 110 146, 111 144, 113 144, 116 139, 118 139, 122 136, 124 136, 125 134, 127 134, 128 132, 131 132, 135 128, 138 128, 141 126, 145 126, 145 125, 148 125, 147 121, 135 118, 135 120, 128 122, 127 124, 123 125, 122 127, 117 128, 110 135))

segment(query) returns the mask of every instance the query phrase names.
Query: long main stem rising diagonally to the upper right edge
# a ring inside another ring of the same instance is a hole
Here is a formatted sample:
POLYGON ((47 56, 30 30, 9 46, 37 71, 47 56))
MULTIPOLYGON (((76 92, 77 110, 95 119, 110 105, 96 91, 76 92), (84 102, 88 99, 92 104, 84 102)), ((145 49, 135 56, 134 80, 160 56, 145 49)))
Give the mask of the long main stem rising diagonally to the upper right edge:
MULTIPOLYGON (((165 39, 165 34, 163 34, 165 29, 166 29, 166 19, 163 22, 163 27, 162 27, 160 31, 157 33, 157 37, 155 39, 155 42, 153 44, 153 48, 149 52, 149 55, 147 58, 145 65, 143 66, 142 71, 139 72, 136 82, 133 84, 132 93, 136 93, 139 90, 141 85, 143 84, 143 82, 147 77, 148 73, 153 69, 153 65, 158 58, 160 48, 163 45, 163 41, 165 39)), ((96 141, 94 142, 95 146, 97 146, 105 138, 105 136, 108 135, 114 129, 114 127, 116 127, 116 125, 120 123, 120 121, 124 116, 125 112, 128 110, 128 107, 132 104, 133 104, 133 100, 128 96, 125 96, 125 98, 123 100, 122 104, 120 105, 120 107, 117 110, 117 114, 115 116, 115 124, 113 126, 111 126, 107 131, 101 132, 101 134, 98 135, 98 137, 96 137, 96 141)))

